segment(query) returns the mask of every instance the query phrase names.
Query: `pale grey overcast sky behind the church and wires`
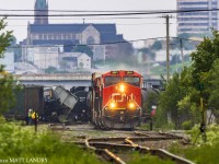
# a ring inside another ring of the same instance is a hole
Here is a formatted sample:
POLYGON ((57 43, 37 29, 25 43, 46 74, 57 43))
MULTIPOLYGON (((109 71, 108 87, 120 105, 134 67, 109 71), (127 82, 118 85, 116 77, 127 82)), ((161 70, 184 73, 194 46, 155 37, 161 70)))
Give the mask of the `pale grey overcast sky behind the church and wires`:
MULTIPOLYGON (((0 0, 0 14, 32 14, 28 12, 12 12, 2 10, 34 10, 35 0, 0 0)), ((140 11, 140 10, 176 10, 176 0, 48 0, 49 10, 73 10, 73 11, 140 11)), ((49 14, 59 14, 51 13, 49 14)), ((62 14, 69 14, 62 12, 62 14)), ((176 19, 170 20, 170 35, 176 35, 176 19)), ((140 17, 140 15, 136 15, 140 17)), ((165 36, 165 20, 162 15, 143 15, 145 19, 112 19, 116 16, 84 17, 85 23, 116 23, 117 34, 123 34, 127 40, 147 39, 165 36)), ((124 16, 117 16, 124 17, 124 16)), ((134 17, 129 15, 128 17, 134 17)), ((20 42, 26 38, 26 25, 34 17, 8 17, 8 28, 12 30, 20 42)), ((82 23, 82 17, 49 17, 49 23, 82 23)))

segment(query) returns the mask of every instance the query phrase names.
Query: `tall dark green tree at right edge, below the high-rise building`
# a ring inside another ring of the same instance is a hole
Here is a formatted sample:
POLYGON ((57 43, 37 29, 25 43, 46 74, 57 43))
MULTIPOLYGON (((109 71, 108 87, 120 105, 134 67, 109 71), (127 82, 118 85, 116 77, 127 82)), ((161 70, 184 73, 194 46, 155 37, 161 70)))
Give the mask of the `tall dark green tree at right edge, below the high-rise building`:
POLYGON ((209 108, 209 97, 212 103, 215 95, 211 94, 214 87, 217 87, 216 84, 210 84, 211 78, 209 75, 214 75, 214 62, 219 59, 219 33, 212 30, 212 37, 205 37, 191 56, 193 86, 199 91, 199 97, 204 99, 205 108, 209 108))

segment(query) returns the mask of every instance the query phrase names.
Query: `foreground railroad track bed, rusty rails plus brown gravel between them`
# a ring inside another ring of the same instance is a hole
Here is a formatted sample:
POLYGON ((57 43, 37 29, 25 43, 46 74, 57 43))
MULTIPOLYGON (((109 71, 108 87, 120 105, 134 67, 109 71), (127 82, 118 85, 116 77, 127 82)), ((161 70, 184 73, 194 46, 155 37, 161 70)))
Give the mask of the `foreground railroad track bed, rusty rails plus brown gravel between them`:
MULTIPOLYGON (((62 134, 65 131, 72 131, 71 128, 62 125, 50 125, 49 128, 54 131, 61 130, 62 134)), ((84 128, 87 129, 87 128, 84 128)), ((90 131, 97 131, 95 129, 89 129, 90 131)), ((89 131, 85 130, 87 132, 89 131)), ((81 132, 81 129, 79 130, 81 132)), ((193 162, 176 156, 168 152, 168 148, 173 143, 178 141, 183 144, 189 144, 189 140, 178 134, 169 132, 155 132, 155 131, 101 131, 102 136, 91 137, 88 134, 74 136, 74 144, 84 147, 87 149, 92 149, 95 153, 102 156, 104 160, 125 164, 130 157, 130 153, 138 152, 139 154, 151 154, 159 156, 161 159, 166 159, 174 161, 176 164, 193 164, 193 162), (103 137, 104 133, 112 132, 112 136, 117 133, 124 133, 124 137, 103 137)), ((68 133, 69 136, 69 133, 68 133)), ((72 138, 71 138, 72 139, 72 138)), ((67 141, 67 142, 71 142, 67 141)))

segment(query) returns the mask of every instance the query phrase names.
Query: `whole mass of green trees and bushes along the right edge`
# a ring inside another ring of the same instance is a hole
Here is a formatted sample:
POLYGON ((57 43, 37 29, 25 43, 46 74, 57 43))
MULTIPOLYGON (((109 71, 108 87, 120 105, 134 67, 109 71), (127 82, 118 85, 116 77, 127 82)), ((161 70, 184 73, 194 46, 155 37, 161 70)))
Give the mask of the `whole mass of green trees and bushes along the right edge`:
POLYGON ((219 33, 212 31, 212 36, 205 37, 191 56, 191 68, 174 73, 159 97, 162 115, 157 113, 157 120, 166 120, 162 117, 171 114, 176 128, 183 122, 182 127, 187 127, 189 120, 192 126, 200 122, 200 99, 205 109, 219 116, 219 33))

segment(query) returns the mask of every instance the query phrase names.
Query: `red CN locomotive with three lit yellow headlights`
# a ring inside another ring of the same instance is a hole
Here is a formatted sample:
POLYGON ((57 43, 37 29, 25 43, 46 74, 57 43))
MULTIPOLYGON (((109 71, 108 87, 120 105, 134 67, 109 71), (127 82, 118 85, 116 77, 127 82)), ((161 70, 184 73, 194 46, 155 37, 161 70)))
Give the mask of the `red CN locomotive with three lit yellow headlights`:
POLYGON ((92 73, 91 117, 97 128, 132 129, 142 115, 142 75, 135 71, 92 73))

